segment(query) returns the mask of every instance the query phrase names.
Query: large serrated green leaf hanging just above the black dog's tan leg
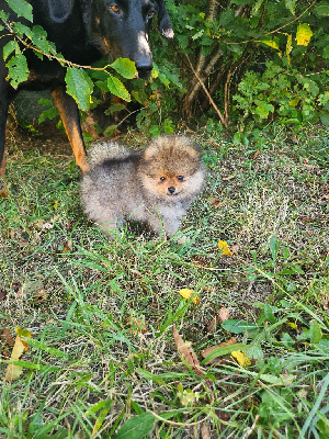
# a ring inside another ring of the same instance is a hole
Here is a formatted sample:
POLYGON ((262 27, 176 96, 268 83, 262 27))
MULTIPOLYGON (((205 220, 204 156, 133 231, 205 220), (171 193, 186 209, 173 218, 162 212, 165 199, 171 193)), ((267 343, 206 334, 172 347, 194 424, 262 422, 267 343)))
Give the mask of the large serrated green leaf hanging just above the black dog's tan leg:
POLYGON ((67 69, 65 81, 67 93, 75 99, 81 110, 89 110, 93 83, 87 71, 70 67, 67 69))

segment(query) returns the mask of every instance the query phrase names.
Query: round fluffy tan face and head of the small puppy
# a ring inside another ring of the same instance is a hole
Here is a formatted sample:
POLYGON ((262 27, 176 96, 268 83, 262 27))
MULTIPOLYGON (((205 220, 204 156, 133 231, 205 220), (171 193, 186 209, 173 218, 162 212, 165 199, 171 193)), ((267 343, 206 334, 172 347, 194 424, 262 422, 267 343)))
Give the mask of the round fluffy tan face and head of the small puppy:
POLYGON ((193 196, 204 181, 200 151, 184 137, 159 137, 146 148, 139 167, 144 188, 163 201, 193 196))

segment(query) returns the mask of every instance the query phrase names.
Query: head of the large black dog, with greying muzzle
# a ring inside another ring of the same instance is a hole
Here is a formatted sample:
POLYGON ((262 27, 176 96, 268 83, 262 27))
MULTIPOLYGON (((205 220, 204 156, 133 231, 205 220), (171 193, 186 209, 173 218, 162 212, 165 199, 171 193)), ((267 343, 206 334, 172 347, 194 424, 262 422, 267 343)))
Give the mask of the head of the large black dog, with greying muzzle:
POLYGON ((83 15, 92 44, 103 55, 135 61, 139 78, 152 69, 148 32, 154 15, 162 35, 173 37, 164 0, 92 0, 83 15))

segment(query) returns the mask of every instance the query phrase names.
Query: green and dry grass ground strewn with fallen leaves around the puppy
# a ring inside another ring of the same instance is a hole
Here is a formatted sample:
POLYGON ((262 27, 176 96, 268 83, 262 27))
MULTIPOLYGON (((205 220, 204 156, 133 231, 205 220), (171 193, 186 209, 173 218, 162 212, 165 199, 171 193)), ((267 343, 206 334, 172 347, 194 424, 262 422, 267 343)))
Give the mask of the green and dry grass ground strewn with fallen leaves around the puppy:
MULTIPOLYGON (((109 243, 82 213, 71 157, 12 143, 0 329, 32 338, 21 378, 2 380, 0 438, 328 437, 328 134, 198 140, 208 179, 184 245, 134 224, 109 243), (230 319, 209 329, 222 306, 230 319), (173 324, 202 373, 178 352, 173 324), (250 365, 229 353, 203 362, 231 337, 250 365)), ((1 376, 11 349, 3 335, 1 376)))

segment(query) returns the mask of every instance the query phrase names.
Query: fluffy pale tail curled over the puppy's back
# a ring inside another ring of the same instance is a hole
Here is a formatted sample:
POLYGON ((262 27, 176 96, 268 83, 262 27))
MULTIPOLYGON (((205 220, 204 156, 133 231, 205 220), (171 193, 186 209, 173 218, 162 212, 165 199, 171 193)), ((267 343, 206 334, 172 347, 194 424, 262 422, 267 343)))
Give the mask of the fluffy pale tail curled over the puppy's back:
POLYGON ((122 159, 129 154, 129 150, 117 142, 97 142, 88 149, 88 162, 90 169, 93 169, 105 160, 122 159))

